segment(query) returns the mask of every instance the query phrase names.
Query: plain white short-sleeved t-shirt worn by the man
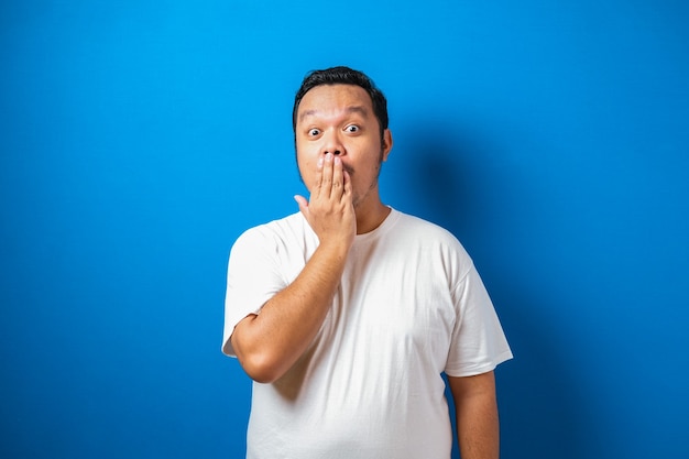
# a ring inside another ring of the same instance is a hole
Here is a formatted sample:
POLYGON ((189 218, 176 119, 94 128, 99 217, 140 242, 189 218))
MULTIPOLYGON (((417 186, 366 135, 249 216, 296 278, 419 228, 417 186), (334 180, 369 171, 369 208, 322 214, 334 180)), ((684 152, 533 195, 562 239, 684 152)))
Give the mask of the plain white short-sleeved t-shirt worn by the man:
MULTIPOLYGON (((232 247, 223 351, 234 326, 292 283, 318 245, 300 214, 232 247)), ((441 373, 493 370, 512 352, 473 263, 442 228, 392 209, 358 234, 316 339, 272 384, 253 384, 251 459, 448 459, 441 373)))

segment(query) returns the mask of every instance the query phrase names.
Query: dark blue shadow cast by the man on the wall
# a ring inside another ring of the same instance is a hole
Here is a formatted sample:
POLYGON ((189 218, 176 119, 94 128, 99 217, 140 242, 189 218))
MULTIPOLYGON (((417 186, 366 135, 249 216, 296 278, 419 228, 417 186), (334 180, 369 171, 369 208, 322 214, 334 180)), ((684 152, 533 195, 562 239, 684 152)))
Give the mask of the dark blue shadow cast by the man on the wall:
MULTIPOLYGON (((557 299, 538 292, 537 278, 532 285, 517 285, 514 273, 505 271, 505 266, 516 264, 505 263, 504 256, 512 251, 505 254, 492 243, 492 238, 500 236, 494 226, 504 227, 500 209, 506 209, 515 200, 528 205, 528 199, 510 196, 510 190, 518 188, 514 182, 524 177, 514 177, 505 167, 495 165, 500 163, 495 157, 501 152, 490 142, 452 134, 458 132, 457 127, 446 128, 449 129, 439 129, 434 123, 433 129, 415 130, 450 134, 406 140, 408 157, 403 160, 400 178, 420 203, 423 210, 414 212, 447 228, 467 247, 513 349, 514 360, 496 371, 503 456, 587 457, 582 437, 592 435, 587 431, 591 428, 588 408, 559 346, 557 330, 543 315, 557 299), (492 160, 485 161, 486 157, 492 160)), ((453 457, 459 457, 457 451, 453 457)))

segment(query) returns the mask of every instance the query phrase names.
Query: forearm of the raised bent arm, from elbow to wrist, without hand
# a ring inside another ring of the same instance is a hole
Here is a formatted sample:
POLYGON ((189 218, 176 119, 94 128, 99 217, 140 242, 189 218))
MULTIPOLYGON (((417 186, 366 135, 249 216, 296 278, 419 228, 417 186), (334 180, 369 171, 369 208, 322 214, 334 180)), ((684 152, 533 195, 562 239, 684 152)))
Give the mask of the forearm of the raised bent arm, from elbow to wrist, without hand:
POLYGON ((259 315, 238 324, 232 347, 252 379, 275 381, 314 340, 340 283, 347 251, 342 244, 319 245, 291 285, 271 298, 259 315))

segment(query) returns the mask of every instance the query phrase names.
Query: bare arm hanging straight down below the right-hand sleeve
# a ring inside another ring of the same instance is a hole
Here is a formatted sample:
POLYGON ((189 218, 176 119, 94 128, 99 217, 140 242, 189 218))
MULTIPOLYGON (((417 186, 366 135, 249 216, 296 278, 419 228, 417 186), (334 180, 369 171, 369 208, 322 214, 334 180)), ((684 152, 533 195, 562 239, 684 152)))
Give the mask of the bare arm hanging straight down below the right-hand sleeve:
POLYGON ((462 459, 497 459, 500 425, 492 371, 475 376, 448 376, 457 412, 457 435, 462 459))

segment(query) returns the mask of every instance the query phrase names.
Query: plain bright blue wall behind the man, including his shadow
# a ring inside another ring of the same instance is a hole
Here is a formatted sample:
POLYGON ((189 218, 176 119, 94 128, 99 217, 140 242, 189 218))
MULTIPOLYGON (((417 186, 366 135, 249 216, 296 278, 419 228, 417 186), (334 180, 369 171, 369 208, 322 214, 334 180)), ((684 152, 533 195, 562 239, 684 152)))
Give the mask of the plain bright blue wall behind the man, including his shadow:
POLYGON ((240 458, 226 262, 296 210, 291 109, 390 100, 382 195, 472 254, 515 352, 504 458, 689 457, 689 7, 0 7, 2 458, 240 458))

